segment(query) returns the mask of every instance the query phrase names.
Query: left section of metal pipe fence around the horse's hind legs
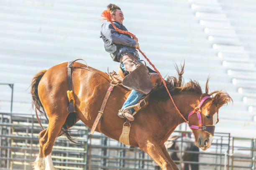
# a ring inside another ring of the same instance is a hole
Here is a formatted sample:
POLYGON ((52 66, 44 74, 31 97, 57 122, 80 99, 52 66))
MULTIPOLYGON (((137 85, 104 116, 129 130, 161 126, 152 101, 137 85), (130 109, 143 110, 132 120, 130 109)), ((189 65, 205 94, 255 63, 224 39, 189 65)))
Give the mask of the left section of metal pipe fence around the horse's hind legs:
MULTIPOLYGON (((38 133, 41 131, 35 115, 0 113, 0 167, 6 169, 30 170, 31 162, 38 156, 38 133), (10 129, 10 133, 8 133, 10 129)), ((42 120, 44 128, 46 121, 42 120)), ((77 141, 80 145, 69 142, 64 136, 54 143, 52 158, 57 169, 86 169, 87 161, 87 128, 77 124, 79 130, 77 141)))

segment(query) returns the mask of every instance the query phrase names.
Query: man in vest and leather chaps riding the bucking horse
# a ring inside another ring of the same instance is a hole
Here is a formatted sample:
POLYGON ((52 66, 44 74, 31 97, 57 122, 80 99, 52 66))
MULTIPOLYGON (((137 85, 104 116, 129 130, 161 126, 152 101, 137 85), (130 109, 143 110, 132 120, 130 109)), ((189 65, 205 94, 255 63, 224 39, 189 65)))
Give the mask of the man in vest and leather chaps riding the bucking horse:
MULTIPOLYGON (((124 17, 120 7, 111 3, 107 7, 110 10, 111 19, 115 26, 120 30, 127 31, 123 25, 124 17)), ((136 37, 132 38, 128 34, 117 32, 108 21, 102 23, 100 35, 104 41, 105 50, 110 53, 114 61, 120 62, 120 67, 125 75, 122 84, 133 89, 124 102, 122 109, 119 110, 118 116, 121 118, 126 117, 128 120, 133 121, 132 113, 135 110, 133 108, 125 108, 136 105, 141 97, 148 94, 152 89, 148 69, 141 63, 136 50, 136 48, 139 48, 138 39, 136 37), (144 81, 138 82, 138 80, 144 81)))

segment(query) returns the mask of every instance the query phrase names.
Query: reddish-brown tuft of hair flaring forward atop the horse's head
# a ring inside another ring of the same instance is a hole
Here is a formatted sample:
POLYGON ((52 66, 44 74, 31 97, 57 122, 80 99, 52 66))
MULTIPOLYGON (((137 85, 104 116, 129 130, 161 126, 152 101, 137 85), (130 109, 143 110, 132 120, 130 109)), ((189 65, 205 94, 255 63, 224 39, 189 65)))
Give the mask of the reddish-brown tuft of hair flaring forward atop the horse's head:
POLYGON ((223 105, 228 104, 228 102, 233 102, 233 100, 227 92, 216 91, 212 102, 217 106, 217 109, 219 109, 223 105))

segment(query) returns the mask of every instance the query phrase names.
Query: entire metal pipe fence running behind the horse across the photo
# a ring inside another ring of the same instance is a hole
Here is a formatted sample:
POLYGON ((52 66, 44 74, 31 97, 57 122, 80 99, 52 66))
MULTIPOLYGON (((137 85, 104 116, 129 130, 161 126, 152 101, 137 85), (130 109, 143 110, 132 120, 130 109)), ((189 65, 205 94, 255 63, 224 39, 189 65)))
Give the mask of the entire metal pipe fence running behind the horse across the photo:
MULTIPOLYGON (((46 128, 47 123, 42 120, 46 128)), ((35 115, 0 113, 0 169, 31 170, 31 162, 39 150, 38 133, 41 127, 35 115)), ((156 170, 154 161, 139 148, 129 147, 101 133, 90 135, 83 123, 78 122, 73 131, 80 143, 57 138, 52 151, 54 167, 62 170, 156 170), (79 130, 78 132, 76 132, 79 130)), ((180 146, 192 141, 184 140, 189 132, 175 131, 181 136, 180 146)), ((256 139, 230 137, 229 133, 215 133, 211 148, 207 151, 169 149, 182 155, 194 153, 199 161, 175 160, 180 167, 184 163, 198 164, 200 170, 255 170, 256 139)))

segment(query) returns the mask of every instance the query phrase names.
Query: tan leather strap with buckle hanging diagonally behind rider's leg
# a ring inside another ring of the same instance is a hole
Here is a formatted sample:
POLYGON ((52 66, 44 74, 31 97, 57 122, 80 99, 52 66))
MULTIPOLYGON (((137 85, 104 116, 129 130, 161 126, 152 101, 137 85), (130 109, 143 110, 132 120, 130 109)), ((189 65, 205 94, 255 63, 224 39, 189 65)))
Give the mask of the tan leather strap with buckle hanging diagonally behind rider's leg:
POLYGON ((100 125, 101 125, 101 118, 102 118, 102 115, 103 115, 103 111, 104 111, 105 106, 107 104, 107 101, 108 101, 108 98, 110 96, 110 93, 112 92, 113 88, 116 85, 118 85, 118 83, 113 85, 112 81, 110 82, 110 87, 108 87, 108 91, 107 91, 107 93, 106 93, 106 95, 105 95, 105 97, 103 99, 103 102, 101 104, 100 110, 98 111, 98 115, 97 115, 97 117, 96 117, 96 119, 95 119, 95 121, 94 121, 94 123, 92 125, 91 135, 94 133, 96 127, 97 127, 98 131, 100 132, 100 125))

